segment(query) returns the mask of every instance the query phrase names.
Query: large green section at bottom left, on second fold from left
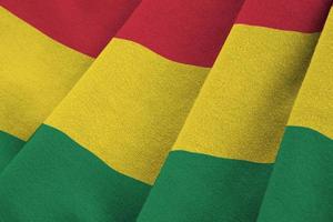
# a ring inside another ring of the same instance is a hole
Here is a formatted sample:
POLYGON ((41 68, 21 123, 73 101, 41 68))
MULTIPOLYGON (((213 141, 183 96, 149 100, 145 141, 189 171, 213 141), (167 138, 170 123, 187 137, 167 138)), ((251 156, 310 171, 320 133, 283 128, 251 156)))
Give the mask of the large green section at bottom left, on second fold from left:
POLYGON ((0 221, 134 221, 149 190, 42 125, 0 176, 0 221))

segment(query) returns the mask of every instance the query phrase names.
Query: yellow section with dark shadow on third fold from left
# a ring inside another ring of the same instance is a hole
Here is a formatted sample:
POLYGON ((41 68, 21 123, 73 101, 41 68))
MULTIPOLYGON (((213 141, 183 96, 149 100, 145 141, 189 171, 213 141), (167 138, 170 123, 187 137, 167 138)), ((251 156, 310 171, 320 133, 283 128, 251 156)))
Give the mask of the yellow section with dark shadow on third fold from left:
POLYGON ((317 34, 236 24, 174 150, 274 162, 317 34))

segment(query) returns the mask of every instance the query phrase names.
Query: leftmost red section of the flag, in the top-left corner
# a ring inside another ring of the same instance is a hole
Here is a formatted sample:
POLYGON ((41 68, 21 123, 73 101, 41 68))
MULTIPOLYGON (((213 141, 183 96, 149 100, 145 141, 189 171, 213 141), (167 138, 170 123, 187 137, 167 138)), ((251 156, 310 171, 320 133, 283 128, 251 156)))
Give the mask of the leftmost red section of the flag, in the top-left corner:
POLYGON ((140 0, 1 0, 54 40, 97 57, 140 0))

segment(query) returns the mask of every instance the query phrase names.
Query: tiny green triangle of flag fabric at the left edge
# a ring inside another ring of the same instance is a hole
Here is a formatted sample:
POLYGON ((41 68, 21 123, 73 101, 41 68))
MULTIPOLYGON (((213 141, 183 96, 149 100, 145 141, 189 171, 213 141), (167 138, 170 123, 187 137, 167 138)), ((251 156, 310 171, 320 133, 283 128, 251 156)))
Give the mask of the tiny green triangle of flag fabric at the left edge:
POLYGON ((24 141, 0 131, 0 172, 18 154, 24 143, 24 141))

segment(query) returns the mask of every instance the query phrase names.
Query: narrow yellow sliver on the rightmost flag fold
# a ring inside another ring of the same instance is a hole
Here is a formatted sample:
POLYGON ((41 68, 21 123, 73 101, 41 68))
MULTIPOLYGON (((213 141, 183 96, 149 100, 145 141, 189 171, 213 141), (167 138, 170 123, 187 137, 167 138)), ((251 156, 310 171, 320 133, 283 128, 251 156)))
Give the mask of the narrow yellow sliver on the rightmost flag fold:
POLYGON ((333 138, 333 9, 321 34, 289 125, 312 128, 333 138))

